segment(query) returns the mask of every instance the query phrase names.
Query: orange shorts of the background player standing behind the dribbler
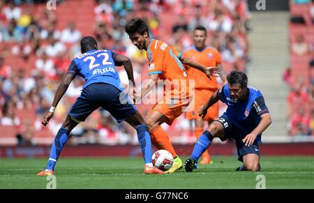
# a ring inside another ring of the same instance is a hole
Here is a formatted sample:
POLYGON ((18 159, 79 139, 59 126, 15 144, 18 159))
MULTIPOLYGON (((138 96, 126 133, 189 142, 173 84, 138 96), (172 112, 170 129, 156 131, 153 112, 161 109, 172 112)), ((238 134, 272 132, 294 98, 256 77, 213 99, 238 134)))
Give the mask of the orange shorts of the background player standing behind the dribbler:
MULTIPOLYGON (((211 97, 213 93, 215 93, 216 90, 211 89, 195 89, 194 99, 190 102, 190 108, 191 111, 186 112, 186 119, 193 120, 193 119, 199 119, 202 118, 201 116, 198 116, 198 110, 202 105, 204 105, 207 100, 211 97), (193 107, 194 103, 194 107, 193 107)), ((215 103, 209 109, 207 110, 207 114, 204 117, 205 121, 212 121, 214 119, 217 119, 219 113, 219 105, 218 103, 215 103)))

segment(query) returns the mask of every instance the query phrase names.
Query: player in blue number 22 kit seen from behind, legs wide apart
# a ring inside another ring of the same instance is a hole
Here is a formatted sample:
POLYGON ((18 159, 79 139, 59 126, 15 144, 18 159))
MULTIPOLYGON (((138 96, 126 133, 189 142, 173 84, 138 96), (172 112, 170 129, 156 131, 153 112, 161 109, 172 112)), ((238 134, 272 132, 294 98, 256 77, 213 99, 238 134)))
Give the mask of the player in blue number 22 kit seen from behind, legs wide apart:
POLYGON ((52 107, 49 112, 43 117, 43 125, 46 126, 54 115, 54 109, 57 107, 64 93, 68 89, 70 82, 76 75, 80 75, 86 81, 81 95, 75 101, 73 107, 66 116, 62 127, 59 129, 52 149, 47 167, 37 174, 37 176, 48 176, 54 172, 54 166, 60 156, 63 146, 68 140, 71 130, 77 126, 80 121, 85 121, 87 116, 97 110, 98 107, 103 107, 117 119, 118 122, 126 121, 137 130, 137 138, 142 149, 144 158, 145 174, 163 174, 151 163, 151 137, 147 124, 137 111, 135 106, 128 100, 128 95, 125 93, 121 85, 119 75, 115 66, 124 66, 128 75, 129 81, 133 87, 131 91, 135 93, 135 82, 133 77, 133 67, 130 59, 121 54, 116 54, 110 50, 98 50, 96 40, 87 36, 81 40, 82 54, 70 63, 68 72, 63 77, 61 84, 54 96, 52 107))

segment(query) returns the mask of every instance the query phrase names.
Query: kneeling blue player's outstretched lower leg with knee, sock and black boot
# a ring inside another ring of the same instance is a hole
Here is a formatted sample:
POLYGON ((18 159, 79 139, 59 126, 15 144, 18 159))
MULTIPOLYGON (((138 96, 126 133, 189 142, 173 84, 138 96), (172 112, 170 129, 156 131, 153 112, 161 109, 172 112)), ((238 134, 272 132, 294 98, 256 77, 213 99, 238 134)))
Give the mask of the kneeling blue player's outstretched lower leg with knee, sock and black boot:
POLYGON ((184 164, 186 172, 192 172, 194 170, 197 160, 200 158, 202 153, 207 150, 214 137, 224 137, 223 124, 218 121, 211 123, 211 125, 204 131, 204 133, 202 133, 200 138, 195 143, 192 155, 184 164))

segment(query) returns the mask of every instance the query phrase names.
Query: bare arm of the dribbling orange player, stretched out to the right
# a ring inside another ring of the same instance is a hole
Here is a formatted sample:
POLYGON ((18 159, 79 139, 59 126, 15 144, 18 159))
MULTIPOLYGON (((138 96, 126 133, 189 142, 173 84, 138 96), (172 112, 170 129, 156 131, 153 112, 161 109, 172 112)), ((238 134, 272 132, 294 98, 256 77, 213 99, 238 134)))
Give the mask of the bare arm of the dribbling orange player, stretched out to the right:
POLYGON ((202 71, 207 75, 209 80, 211 80, 211 76, 218 77, 218 74, 220 73, 220 70, 217 67, 206 67, 202 65, 202 63, 198 63, 197 61, 193 61, 189 59, 188 57, 181 56, 180 61, 187 66, 190 66, 192 68, 196 68, 197 70, 202 71))

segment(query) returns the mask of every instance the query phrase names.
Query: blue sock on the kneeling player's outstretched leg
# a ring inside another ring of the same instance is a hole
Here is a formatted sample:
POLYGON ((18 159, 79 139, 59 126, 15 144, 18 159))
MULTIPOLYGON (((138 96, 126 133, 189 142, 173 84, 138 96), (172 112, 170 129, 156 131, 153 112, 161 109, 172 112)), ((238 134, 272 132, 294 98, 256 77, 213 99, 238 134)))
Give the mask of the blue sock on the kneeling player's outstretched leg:
POLYGON ((208 130, 205 130, 204 133, 198 138, 197 142, 195 143, 192 155, 190 158, 192 158, 195 163, 197 163, 197 160, 200 158, 202 153, 209 147, 209 144, 211 144, 211 140, 213 140, 213 135, 209 133, 208 130))

